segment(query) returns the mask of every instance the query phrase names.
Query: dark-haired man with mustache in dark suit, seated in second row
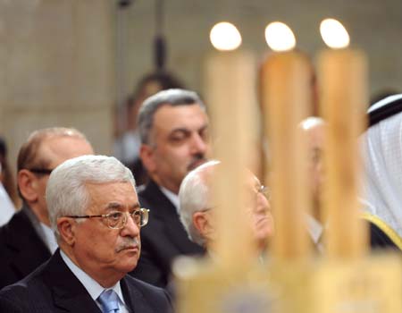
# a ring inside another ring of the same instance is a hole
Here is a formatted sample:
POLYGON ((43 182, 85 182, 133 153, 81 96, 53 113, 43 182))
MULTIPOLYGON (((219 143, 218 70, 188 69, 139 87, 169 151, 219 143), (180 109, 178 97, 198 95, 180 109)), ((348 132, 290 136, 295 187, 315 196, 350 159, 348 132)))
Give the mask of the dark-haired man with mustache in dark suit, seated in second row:
POLYGON ((188 240, 180 224, 178 193, 184 176, 206 161, 205 105, 192 91, 160 91, 140 107, 138 129, 142 142, 139 155, 150 177, 138 190, 138 199, 150 209, 151 221, 141 234, 142 254, 132 275, 164 287, 173 258, 203 252, 188 240))

